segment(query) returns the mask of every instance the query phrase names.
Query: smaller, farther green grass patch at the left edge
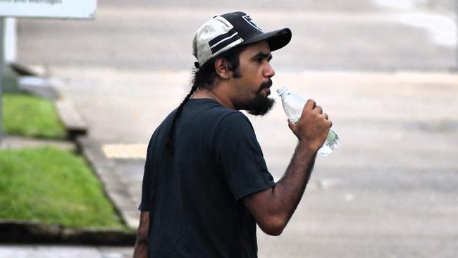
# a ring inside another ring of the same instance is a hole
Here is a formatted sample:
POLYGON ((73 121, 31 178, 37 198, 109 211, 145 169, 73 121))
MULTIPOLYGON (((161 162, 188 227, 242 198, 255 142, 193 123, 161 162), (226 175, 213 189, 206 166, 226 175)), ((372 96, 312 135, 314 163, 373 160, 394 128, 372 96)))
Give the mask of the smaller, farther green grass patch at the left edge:
POLYGON ((54 139, 66 137, 54 103, 26 94, 4 94, 2 127, 8 135, 54 139))

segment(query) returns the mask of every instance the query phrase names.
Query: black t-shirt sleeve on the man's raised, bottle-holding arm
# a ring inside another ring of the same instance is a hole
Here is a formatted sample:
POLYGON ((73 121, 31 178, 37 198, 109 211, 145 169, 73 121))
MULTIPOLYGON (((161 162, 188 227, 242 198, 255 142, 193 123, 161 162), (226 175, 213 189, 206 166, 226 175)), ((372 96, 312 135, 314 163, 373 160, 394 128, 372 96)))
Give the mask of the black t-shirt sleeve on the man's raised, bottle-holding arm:
POLYGON ((252 124, 244 114, 231 113, 223 118, 213 135, 216 161, 235 199, 276 185, 252 124))

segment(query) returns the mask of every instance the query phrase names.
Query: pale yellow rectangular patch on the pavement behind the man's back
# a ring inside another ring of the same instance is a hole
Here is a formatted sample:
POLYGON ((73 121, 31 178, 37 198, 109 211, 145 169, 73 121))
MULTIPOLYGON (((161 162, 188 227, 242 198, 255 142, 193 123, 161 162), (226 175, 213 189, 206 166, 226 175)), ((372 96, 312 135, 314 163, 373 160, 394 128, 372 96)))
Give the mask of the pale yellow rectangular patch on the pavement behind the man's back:
POLYGON ((102 150, 109 159, 145 159, 147 147, 144 144, 109 144, 102 145, 102 150))

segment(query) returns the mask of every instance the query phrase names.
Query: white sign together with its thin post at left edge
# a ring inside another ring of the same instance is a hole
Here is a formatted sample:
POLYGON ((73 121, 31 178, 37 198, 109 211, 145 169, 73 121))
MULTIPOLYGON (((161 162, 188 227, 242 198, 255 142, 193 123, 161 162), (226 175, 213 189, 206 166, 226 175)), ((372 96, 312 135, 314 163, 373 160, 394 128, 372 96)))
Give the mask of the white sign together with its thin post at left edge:
POLYGON ((93 19, 97 0, 0 0, 0 145, 2 137, 2 87, 5 63, 6 17, 93 19))

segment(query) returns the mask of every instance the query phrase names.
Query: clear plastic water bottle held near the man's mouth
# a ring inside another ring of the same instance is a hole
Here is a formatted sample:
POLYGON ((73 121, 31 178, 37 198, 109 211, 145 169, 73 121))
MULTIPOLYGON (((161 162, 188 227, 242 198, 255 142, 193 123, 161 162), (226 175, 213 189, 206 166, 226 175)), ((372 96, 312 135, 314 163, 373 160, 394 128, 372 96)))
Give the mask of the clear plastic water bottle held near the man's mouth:
MULTIPOLYGON (((281 97, 281 103, 283 104, 283 110, 285 110, 286 116, 297 123, 302 115, 302 110, 304 109, 307 99, 291 92, 285 86, 280 87, 277 93, 281 97)), ((339 147, 339 144, 339 137, 333 130, 329 130, 328 137, 326 137, 323 147, 318 149, 318 154, 320 154, 320 156, 328 156, 334 149, 339 147)))

